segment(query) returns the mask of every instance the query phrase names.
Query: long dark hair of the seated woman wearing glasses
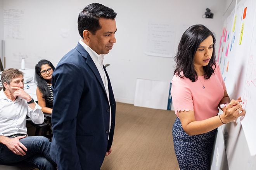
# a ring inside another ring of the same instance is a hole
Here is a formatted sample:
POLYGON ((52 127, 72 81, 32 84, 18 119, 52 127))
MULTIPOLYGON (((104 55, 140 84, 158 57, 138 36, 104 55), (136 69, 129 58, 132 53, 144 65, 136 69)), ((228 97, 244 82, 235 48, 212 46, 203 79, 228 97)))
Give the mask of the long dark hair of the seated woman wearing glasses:
POLYGON ((43 93, 43 98, 47 98, 50 95, 50 90, 47 87, 47 81, 41 76, 40 73, 42 65, 49 65, 52 70, 54 70, 55 67, 46 59, 41 59, 35 66, 35 83, 37 83, 37 87, 43 93))

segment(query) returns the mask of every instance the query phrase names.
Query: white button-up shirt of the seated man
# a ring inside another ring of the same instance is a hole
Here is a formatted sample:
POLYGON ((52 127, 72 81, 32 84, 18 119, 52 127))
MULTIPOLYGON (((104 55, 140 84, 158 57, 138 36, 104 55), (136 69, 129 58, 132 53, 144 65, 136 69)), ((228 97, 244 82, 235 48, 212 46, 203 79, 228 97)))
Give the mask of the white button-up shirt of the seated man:
POLYGON ((25 99, 17 97, 13 102, 8 99, 3 89, 0 91, 0 135, 10 136, 13 134, 27 134, 26 116, 35 124, 42 124, 44 116, 42 107, 37 103, 32 110, 25 99))

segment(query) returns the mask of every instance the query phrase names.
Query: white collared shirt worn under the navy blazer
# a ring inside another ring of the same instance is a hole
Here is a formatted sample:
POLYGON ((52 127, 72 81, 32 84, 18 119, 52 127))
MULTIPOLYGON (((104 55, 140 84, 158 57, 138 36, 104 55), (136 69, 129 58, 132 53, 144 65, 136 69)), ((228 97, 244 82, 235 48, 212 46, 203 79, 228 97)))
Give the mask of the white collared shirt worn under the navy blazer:
MULTIPOLYGON (((106 73, 104 71, 104 68, 103 68, 104 54, 100 54, 100 55, 97 54, 89 46, 87 46, 81 39, 80 39, 79 43, 89 53, 89 55, 91 56, 94 64, 96 65, 96 67, 97 67, 97 69, 100 73, 101 80, 104 84, 106 93, 107 93, 107 99, 109 101, 109 88, 108 88, 108 82, 107 82, 107 75, 106 75, 106 73)), ((110 127, 111 127, 111 107, 110 107, 110 102, 109 102, 109 132, 110 132, 110 127)))

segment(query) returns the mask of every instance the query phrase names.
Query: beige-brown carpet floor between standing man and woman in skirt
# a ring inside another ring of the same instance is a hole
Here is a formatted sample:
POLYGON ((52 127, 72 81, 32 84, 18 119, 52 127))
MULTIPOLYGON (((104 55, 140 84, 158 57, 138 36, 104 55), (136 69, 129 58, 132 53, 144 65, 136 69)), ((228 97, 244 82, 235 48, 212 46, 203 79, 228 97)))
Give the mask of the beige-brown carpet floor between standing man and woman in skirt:
POLYGON ((112 153, 101 170, 178 170, 170 110, 117 103, 112 153))

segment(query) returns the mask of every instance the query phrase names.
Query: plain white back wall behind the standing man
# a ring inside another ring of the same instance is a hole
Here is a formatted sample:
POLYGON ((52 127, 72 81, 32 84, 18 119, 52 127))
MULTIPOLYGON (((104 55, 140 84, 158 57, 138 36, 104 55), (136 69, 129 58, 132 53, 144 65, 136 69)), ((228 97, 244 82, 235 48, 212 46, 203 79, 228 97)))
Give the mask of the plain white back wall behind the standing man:
MULTIPOLYGON (((5 37, 7 67, 19 67, 25 55, 27 67, 34 67, 39 59, 50 59, 56 65, 61 57, 76 46, 79 35, 77 17, 89 3, 99 2, 117 13, 117 43, 106 55, 104 64, 111 77, 116 100, 133 103, 136 78, 170 82, 173 77, 173 58, 160 58, 144 54, 148 22, 173 24, 176 28, 175 49, 182 35, 183 25, 204 24, 216 34, 216 49, 223 23, 223 0, 3 0, 4 9, 24 11, 23 40, 5 37), (203 19, 206 8, 214 13, 213 19, 203 19), (61 33, 66 32, 64 36, 61 33), (19 62, 15 63, 15 56, 19 62)), ((4 33, 6 36, 6 33, 4 33)))

